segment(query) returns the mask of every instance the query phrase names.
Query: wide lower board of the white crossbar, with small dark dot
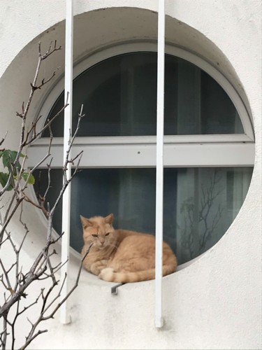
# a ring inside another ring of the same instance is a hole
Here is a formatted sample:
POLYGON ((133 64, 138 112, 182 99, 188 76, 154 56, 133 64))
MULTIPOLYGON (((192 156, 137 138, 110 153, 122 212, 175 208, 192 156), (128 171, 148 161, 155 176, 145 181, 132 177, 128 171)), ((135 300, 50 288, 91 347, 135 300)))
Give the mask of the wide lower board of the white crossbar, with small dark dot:
MULTIPOLYGON (((80 167, 155 167, 155 144, 75 144, 72 157, 84 151, 80 167)), ((28 148, 27 167, 34 167, 48 153, 48 146, 28 148)), ((52 167, 62 167, 63 146, 51 148, 52 167)), ((254 165, 252 143, 168 144, 163 146, 164 167, 240 167, 254 165)), ((45 160, 42 168, 46 167, 45 160)))

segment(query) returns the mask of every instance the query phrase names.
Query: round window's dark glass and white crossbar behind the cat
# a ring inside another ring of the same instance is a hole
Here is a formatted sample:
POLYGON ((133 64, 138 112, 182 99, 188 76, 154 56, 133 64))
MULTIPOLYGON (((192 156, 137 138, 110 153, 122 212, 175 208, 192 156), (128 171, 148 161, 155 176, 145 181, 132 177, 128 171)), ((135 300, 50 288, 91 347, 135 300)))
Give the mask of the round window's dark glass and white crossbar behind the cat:
MULTIPOLYGON (((73 130, 81 104, 86 117, 76 142, 86 157, 71 186, 71 246, 76 251, 82 248, 80 215, 113 213, 115 228, 154 234, 157 53, 110 57, 76 77, 73 130)), ((48 118, 62 106, 64 92, 48 118)), ((179 264, 213 246, 245 200, 252 160, 242 118, 208 73, 166 55, 163 239, 179 264)), ((55 120, 52 133, 58 144, 63 130, 63 118, 55 120)), ((48 138, 48 131, 42 137, 48 138)), ((55 168, 47 198, 51 203, 62 181, 61 170, 55 168)), ((48 170, 38 170, 36 178, 39 172, 35 190, 43 193, 48 170)), ((61 232, 61 206, 54 228, 61 232)))

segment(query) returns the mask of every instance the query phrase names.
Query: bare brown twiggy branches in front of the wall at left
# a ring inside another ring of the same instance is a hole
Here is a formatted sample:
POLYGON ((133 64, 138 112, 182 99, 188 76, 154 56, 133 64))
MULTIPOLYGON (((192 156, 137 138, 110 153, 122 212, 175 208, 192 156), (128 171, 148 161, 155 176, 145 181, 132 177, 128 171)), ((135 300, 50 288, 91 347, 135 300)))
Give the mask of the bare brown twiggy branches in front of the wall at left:
MULTIPOLYGON (((3 186, 3 188, 0 191, 0 200, 3 199, 3 196, 6 195, 7 191, 10 190, 10 186, 12 189, 12 193, 10 196, 8 196, 8 201, 6 204, 4 204, 0 208, 0 250, 4 249, 6 247, 10 248, 13 253, 13 261, 11 264, 6 264, 5 260, 3 258, 0 258, 0 283, 3 288, 1 288, 1 304, 0 304, 0 318, 3 319, 3 329, 0 330, 0 346, 3 349, 6 349, 8 338, 10 337, 10 346, 11 349, 17 348, 15 344, 15 331, 16 331, 16 325, 17 320, 20 317, 25 317, 28 319, 29 323, 31 324, 31 329, 26 335, 26 339, 24 344, 20 347, 20 349, 25 349, 38 335, 41 335, 43 332, 47 332, 48 330, 39 330, 38 326, 42 321, 46 321, 50 318, 54 317, 54 314, 57 312, 59 307, 61 307, 61 304, 63 304, 73 293, 73 290, 78 286, 78 282, 80 279, 80 272, 82 269, 82 262, 85 259, 82 258, 80 262, 80 267, 78 269, 78 275, 75 279, 75 283, 71 290, 66 294, 66 297, 64 297, 63 300, 59 300, 61 295, 61 290, 64 288, 64 283, 66 281, 67 276, 63 276, 63 283, 59 287, 59 290, 57 290, 58 286, 58 279, 57 279, 57 273, 60 272, 61 267, 67 263, 54 263, 52 260, 54 258, 54 255, 57 254, 57 252, 52 249, 54 244, 61 239, 61 234, 59 237, 53 238, 52 237, 52 221, 54 212, 57 209, 57 206, 61 200, 61 198, 64 195, 64 191, 66 190, 69 183, 71 183, 73 177, 75 174, 77 174, 79 166, 80 166, 80 159, 82 157, 82 152, 78 153, 78 155, 75 155, 71 157, 71 149, 73 146, 73 142, 75 140, 75 137, 77 135, 77 132, 80 127, 80 121, 85 116, 82 113, 82 107, 79 113, 78 118, 78 125, 76 127, 76 130, 73 135, 70 136, 68 140, 68 148, 66 150, 66 159, 64 160, 63 168, 61 169, 64 177, 64 182, 61 184, 61 189, 59 191, 59 195, 57 196, 56 200, 54 201, 54 204, 52 204, 52 207, 50 208, 50 204, 46 203, 46 197, 48 195, 48 191, 51 188, 51 164, 52 159, 47 165, 48 168, 48 186, 45 188, 44 194, 41 195, 38 193, 38 202, 35 202, 34 200, 29 197, 29 195, 26 193, 27 187, 29 185, 29 181, 31 179, 31 176, 34 174, 34 171, 40 167, 43 162, 48 160, 51 156, 51 147, 52 147, 52 123, 53 121, 61 116, 61 113, 64 111, 66 106, 68 106, 68 103, 66 102, 65 106, 50 120, 47 120, 45 125, 41 127, 38 130, 38 122, 41 120, 42 116, 38 116, 36 120, 27 126, 27 116, 29 113, 29 109, 31 106, 32 99, 34 97, 34 94, 36 90, 41 90, 41 87, 43 85, 47 84, 54 78, 56 71, 52 73, 52 75, 45 79, 42 78, 41 82, 38 83, 39 80, 39 73, 42 62, 50 57, 54 52, 57 50, 60 50, 61 46, 57 46, 57 42, 55 41, 54 44, 50 43, 50 46, 48 50, 42 54, 41 53, 41 43, 38 43, 38 62, 36 66, 36 72, 34 74, 34 79, 31 83, 31 90, 29 92, 29 97, 27 102, 22 103, 21 111, 17 112, 17 116, 20 118, 21 123, 21 130, 20 130, 20 145, 17 148, 15 156, 12 155, 12 158, 10 157, 8 159, 8 180, 3 186), (27 152, 26 147, 29 146, 32 142, 34 142, 38 137, 41 136, 41 134, 45 130, 49 130, 50 133, 50 143, 48 146, 48 152, 43 157, 43 159, 36 164, 33 169, 30 169, 28 172, 25 172, 26 169, 26 160, 27 160, 27 152), (22 164, 20 165, 20 158, 22 158, 22 164), (76 165, 75 165, 76 162, 76 165), (72 164, 75 169, 73 171, 73 174, 66 174, 66 169, 68 168, 68 165, 72 164), (31 266, 29 267, 23 267, 22 266, 22 254, 23 254, 23 247, 24 242, 26 241, 28 235, 29 235, 29 227, 27 223, 23 220, 23 203, 27 202, 30 205, 33 205, 37 209, 40 209, 44 212, 46 218, 47 218, 47 229, 46 229, 46 239, 45 243, 43 244, 43 247, 40 251, 36 252, 36 257, 31 262, 31 266), (4 211, 3 211, 4 209, 4 211), (20 225, 21 225, 21 239, 20 242, 17 243, 13 237, 11 232, 8 232, 8 225, 10 224, 10 221, 14 217, 14 215, 17 213, 20 209, 20 225), (1 211, 3 211, 3 215, 1 214, 1 211), (49 283, 48 287, 42 288, 38 293, 37 297, 32 298, 30 297, 29 287, 32 285, 32 283, 37 282, 38 285, 41 281, 45 280, 47 283, 49 283), (24 301, 27 302, 25 306, 23 306, 24 301), (36 307, 38 308, 38 314, 36 316, 36 320, 29 319, 28 311, 32 308, 36 307)), ((67 96, 68 97, 68 96, 67 96)), ((3 137, 0 141, 0 145, 3 144, 3 142, 6 139, 3 137)), ((0 157, 3 153, 0 154, 0 157)), ((91 246, 89 247, 89 249, 91 246)), ((89 250, 87 251, 86 255, 89 253, 89 250)))

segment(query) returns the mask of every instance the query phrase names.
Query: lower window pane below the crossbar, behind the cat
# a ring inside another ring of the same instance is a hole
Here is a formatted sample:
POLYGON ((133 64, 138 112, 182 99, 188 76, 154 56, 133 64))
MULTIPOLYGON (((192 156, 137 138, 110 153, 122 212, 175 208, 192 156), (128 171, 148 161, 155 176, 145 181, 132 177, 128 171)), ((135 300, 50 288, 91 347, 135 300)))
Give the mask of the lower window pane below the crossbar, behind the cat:
MULTIPOLYGON (((36 193, 42 195, 48 170, 34 173, 36 193)), ((51 204, 61 188, 61 170, 51 170, 51 204)), ((164 169, 163 238, 179 264, 205 252, 224 235, 242 202, 252 176, 251 167, 164 169)), ((154 234, 155 181, 153 168, 82 169, 71 186, 71 246, 82 248, 80 214, 115 214, 115 228, 154 234)), ((61 204, 54 216, 61 232, 61 204)))

